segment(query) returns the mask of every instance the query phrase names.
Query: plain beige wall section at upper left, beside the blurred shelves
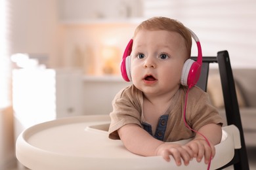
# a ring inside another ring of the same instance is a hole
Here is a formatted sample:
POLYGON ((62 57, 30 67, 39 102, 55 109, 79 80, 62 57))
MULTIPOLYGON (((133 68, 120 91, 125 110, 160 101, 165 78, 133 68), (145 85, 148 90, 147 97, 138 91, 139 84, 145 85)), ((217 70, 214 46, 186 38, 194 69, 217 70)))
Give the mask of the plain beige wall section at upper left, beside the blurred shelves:
POLYGON ((43 54, 50 66, 61 65, 56 0, 11 0, 11 54, 43 54))

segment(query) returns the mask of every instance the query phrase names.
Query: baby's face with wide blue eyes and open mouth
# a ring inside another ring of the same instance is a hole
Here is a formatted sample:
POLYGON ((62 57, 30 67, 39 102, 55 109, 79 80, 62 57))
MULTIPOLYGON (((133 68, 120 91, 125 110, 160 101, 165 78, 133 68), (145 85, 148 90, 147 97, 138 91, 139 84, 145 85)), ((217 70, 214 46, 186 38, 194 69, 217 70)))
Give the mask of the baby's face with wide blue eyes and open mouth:
POLYGON ((175 92, 185 60, 186 47, 179 33, 141 30, 133 39, 133 84, 148 95, 175 92))

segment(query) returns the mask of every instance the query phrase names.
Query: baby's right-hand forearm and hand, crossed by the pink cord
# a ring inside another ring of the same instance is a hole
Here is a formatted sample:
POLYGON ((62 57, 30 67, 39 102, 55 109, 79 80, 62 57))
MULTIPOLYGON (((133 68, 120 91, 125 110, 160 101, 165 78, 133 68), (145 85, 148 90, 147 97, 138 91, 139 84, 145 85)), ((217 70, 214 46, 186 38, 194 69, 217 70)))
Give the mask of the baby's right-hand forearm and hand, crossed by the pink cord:
POLYGON ((199 133, 204 135, 211 146, 207 144, 205 139, 199 133, 196 133, 195 139, 190 141, 186 146, 194 152, 194 158, 199 162, 204 156, 205 163, 215 156, 215 145, 221 142, 222 129, 219 124, 207 124, 198 130, 199 133))

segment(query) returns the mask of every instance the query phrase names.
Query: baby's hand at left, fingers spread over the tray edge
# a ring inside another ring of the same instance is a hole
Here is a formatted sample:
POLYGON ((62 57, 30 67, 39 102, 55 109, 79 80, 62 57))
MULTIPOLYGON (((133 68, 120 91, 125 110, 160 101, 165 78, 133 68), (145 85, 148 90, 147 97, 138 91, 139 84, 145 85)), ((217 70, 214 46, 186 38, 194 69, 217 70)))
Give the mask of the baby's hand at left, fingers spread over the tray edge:
POLYGON ((184 165, 188 165, 189 161, 193 159, 193 150, 186 145, 175 143, 163 143, 158 146, 156 154, 163 156, 163 159, 170 161, 170 156, 173 156, 178 166, 181 165, 181 159, 184 161, 184 165))

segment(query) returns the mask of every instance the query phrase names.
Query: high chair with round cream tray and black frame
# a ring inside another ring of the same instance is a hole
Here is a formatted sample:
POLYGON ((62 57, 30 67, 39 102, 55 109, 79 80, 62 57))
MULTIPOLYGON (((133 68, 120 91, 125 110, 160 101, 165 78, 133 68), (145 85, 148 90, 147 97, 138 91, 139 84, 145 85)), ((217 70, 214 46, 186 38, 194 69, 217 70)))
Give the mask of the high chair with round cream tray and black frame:
MULTIPOLYGON (((209 63, 219 63, 228 126, 223 127, 221 143, 211 169, 249 169, 240 120, 234 80, 228 52, 217 57, 203 58, 202 75, 198 86, 207 87, 209 63)), ((108 115, 77 116, 37 124, 23 131, 16 141, 16 157, 29 169, 207 169, 195 159, 188 166, 177 167, 161 156, 138 156, 129 152, 120 140, 108 139, 108 115)), ((178 141, 187 143, 188 140, 178 141)))

